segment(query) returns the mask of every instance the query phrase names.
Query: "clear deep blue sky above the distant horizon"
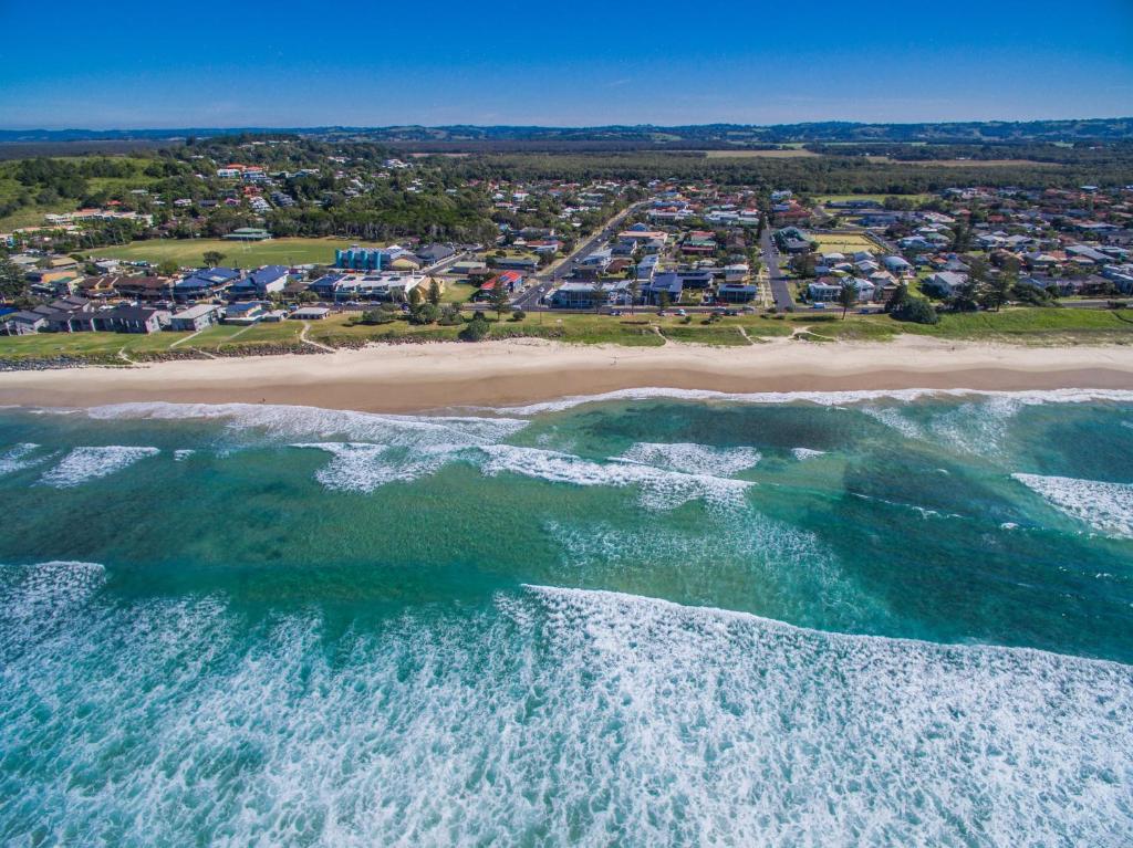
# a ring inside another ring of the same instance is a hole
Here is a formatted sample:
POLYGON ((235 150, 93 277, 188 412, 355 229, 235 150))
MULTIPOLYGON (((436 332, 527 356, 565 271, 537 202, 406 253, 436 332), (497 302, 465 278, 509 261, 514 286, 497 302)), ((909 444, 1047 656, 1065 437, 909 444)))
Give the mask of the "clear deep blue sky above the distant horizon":
POLYGON ((1133 0, 0 0, 9 129, 1127 115, 1133 0))

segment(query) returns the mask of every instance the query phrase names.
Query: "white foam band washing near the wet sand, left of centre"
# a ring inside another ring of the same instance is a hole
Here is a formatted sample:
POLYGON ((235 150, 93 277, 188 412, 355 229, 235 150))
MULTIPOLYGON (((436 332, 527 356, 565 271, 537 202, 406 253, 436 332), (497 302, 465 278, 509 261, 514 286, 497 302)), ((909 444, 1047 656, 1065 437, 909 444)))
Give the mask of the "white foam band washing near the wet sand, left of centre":
POLYGON ((385 416, 372 412, 253 403, 121 403, 86 411, 96 419, 225 419, 233 429, 256 428, 287 438, 343 436, 406 447, 497 442, 527 426, 509 418, 385 416))

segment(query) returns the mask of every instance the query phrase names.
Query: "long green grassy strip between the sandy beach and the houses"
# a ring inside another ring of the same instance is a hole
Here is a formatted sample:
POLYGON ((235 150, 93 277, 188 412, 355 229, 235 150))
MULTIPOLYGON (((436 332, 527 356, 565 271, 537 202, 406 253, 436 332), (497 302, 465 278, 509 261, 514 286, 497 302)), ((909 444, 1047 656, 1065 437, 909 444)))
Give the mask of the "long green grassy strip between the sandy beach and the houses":
MULTIPOLYGON (((466 316, 470 312, 466 311, 466 316)), ((404 320, 392 324, 357 324, 357 315, 335 315, 312 322, 309 341, 330 346, 359 346, 367 342, 454 341, 460 327, 418 327, 404 320)), ((1007 344, 1133 344, 1133 310, 1012 308, 1000 312, 943 315, 939 324, 903 324, 885 315, 849 315, 842 320, 830 312, 795 312, 786 316, 742 315, 709 324, 697 315, 688 324, 682 318, 658 318, 638 314, 620 318, 603 315, 529 314, 522 322, 504 318, 492 324, 489 337, 553 339, 576 344, 622 344, 659 346, 666 342, 716 346, 743 346, 760 341, 799 334, 807 342, 886 342, 900 334, 940 340, 1007 344), (741 332, 742 328, 742 332, 741 332)), ((56 357, 92 362, 122 363, 154 357, 224 356, 280 352, 303 348, 301 322, 257 324, 250 327, 222 325, 196 335, 154 333, 40 333, 0 336, 0 360, 34 360, 56 357), (191 335, 191 337, 190 337, 191 335)), ((309 350, 309 346, 308 346, 309 350)))

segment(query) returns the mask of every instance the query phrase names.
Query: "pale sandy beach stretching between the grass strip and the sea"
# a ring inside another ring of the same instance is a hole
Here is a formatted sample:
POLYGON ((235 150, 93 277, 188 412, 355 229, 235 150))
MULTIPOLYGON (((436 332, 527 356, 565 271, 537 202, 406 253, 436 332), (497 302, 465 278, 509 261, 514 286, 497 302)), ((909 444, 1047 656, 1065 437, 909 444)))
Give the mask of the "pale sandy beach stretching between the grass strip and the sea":
POLYGON ((255 357, 0 374, 0 403, 290 403, 417 412, 504 406, 638 387, 719 392, 895 388, 1133 389, 1133 349, 1025 348, 909 337, 887 344, 777 340, 750 348, 484 344, 374 345, 255 357))

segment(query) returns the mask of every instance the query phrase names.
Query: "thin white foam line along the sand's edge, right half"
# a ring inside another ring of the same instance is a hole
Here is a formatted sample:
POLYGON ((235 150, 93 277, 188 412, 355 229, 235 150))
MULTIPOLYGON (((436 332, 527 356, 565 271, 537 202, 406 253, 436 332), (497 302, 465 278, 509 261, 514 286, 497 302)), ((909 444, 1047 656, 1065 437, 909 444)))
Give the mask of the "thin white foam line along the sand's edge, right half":
POLYGON ((560 412, 587 403, 605 401, 651 401, 668 399, 676 401, 719 401, 726 403, 782 404, 811 403, 819 406, 847 406, 870 401, 912 402, 925 397, 1003 397, 1028 405, 1043 403, 1096 403, 1133 402, 1133 392, 1105 388, 1057 388, 1049 391, 993 392, 969 388, 898 388, 863 389, 855 392, 712 392, 697 388, 623 388, 593 395, 572 395, 555 401, 530 403, 522 406, 506 406, 501 412, 516 416, 535 416, 543 412, 560 412))

